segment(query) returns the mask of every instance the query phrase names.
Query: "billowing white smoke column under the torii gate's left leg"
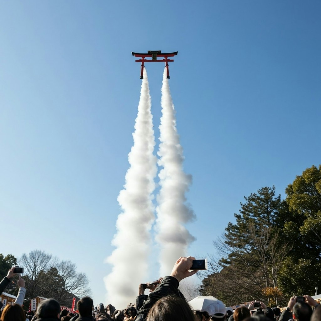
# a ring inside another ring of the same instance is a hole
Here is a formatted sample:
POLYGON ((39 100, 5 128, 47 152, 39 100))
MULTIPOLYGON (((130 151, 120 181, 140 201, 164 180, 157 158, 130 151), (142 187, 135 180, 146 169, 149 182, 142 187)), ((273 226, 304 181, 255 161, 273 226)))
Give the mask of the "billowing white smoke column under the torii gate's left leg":
MULTIPOLYGON (((152 240, 149 231, 154 220, 152 193, 157 173, 152 128, 151 97, 144 70, 138 114, 133 133, 134 145, 128 154, 130 167, 124 189, 117 198, 122 208, 118 215, 112 244, 117 248, 106 259, 113 265, 105 278, 108 303, 116 309, 126 308, 137 296, 138 284, 146 279, 152 240)), ((145 281, 146 282, 146 281, 145 281)))

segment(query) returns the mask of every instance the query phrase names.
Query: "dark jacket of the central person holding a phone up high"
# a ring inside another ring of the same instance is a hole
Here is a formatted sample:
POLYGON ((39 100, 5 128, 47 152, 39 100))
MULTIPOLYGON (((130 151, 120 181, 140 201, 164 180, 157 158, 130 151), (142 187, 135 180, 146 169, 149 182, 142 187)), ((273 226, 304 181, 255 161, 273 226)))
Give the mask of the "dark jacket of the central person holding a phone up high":
POLYGON ((178 290, 179 282, 172 276, 165 276, 161 280, 159 286, 152 291, 148 298, 144 301, 142 308, 137 313, 135 321, 143 321, 146 319, 149 310, 152 306, 162 297, 166 297, 170 294, 175 294, 185 300, 184 295, 178 290))

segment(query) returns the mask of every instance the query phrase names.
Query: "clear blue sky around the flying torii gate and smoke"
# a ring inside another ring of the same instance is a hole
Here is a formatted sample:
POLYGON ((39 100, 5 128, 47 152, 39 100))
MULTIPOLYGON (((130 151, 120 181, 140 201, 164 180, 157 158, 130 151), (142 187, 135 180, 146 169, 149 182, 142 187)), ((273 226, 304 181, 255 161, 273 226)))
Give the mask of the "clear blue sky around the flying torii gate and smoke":
MULTIPOLYGON (((72 260, 95 303, 133 143, 131 51, 178 50, 170 89, 193 175, 190 255, 214 253, 244 195, 275 185, 284 197, 320 164, 318 0, 0 5, 0 252, 72 260)), ((163 68, 146 65, 157 141, 163 68)), ((159 277, 151 265, 146 281, 159 277)))

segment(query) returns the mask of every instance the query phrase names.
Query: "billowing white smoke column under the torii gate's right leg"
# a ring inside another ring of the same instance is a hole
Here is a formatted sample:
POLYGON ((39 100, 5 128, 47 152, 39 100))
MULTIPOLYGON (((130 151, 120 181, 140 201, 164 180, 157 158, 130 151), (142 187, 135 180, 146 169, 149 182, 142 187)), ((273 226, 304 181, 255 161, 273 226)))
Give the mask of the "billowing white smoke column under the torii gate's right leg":
POLYGON ((184 223, 195 219, 193 210, 185 204, 185 193, 192 182, 192 176, 183 171, 183 149, 179 144, 176 129, 176 117, 170 95, 169 83, 163 74, 161 88, 162 117, 160 118, 160 192, 157 195, 158 206, 155 237, 160 245, 160 275, 168 275, 175 261, 186 256, 188 245, 195 238, 184 227, 184 223))

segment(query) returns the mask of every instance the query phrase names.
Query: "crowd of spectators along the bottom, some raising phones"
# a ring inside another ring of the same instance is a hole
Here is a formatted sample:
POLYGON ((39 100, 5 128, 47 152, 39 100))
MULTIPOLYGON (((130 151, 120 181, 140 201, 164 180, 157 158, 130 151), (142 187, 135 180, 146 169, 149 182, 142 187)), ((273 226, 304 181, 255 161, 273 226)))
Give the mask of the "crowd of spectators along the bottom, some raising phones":
MULTIPOLYGON (((160 278, 151 284, 140 284, 136 304, 128 304, 126 309, 116 310, 111 304, 96 307, 90 297, 77 302, 77 313, 62 310, 55 299, 46 299, 39 303, 37 311, 27 314, 22 309, 26 294, 25 282, 19 275, 19 292, 13 304, 1 311, 0 321, 321 321, 321 306, 310 296, 293 296, 287 308, 281 313, 279 308, 268 308, 263 302, 252 301, 235 310, 230 307, 210 315, 208 311, 192 310, 184 295, 178 290, 181 280, 195 274, 191 271, 194 257, 180 257, 169 276, 160 278), (145 289, 150 290, 145 295, 145 289), (255 308, 259 305, 258 308, 255 308)), ((0 282, 0 293, 16 275, 14 267, 0 282)))

